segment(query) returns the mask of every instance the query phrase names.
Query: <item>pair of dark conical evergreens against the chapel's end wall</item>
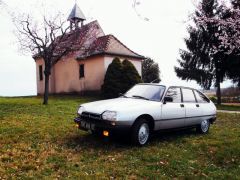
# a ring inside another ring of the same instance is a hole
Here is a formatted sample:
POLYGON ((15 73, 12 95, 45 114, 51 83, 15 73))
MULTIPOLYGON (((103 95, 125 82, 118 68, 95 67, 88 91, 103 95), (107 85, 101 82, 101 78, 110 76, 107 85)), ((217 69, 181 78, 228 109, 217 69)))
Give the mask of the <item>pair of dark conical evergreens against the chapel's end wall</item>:
POLYGON ((120 93, 125 93, 141 82, 141 77, 130 61, 124 60, 121 63, 119 58, 114 58, 108 66, 102 85, 102 94, 105 98, 116 98, 120 93))

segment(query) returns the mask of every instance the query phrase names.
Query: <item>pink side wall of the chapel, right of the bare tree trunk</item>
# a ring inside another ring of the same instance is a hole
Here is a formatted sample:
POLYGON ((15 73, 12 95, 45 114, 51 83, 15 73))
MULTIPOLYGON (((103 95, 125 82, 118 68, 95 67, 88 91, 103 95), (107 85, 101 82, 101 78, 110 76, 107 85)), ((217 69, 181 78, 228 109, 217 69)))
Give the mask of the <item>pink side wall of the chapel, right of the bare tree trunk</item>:
POLYGON ((55 93, 100 90, 103 82, 103 57, 77 61, 74 58, 59 61, 54 66, 55 93), (85 76, 79 79, 79 65, 84 64, 85 76))

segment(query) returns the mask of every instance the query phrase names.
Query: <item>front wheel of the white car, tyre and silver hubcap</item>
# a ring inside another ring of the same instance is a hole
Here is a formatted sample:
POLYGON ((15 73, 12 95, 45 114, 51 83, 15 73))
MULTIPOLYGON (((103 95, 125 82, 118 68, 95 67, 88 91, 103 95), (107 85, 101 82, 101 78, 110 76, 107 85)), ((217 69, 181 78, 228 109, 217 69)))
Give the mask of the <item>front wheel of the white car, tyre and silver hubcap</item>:
POLYGON ((150 137, 149 123, 145 119, 139 119, 132 127, 131 140, 134 145, 143 146, 147 144, 150 137))

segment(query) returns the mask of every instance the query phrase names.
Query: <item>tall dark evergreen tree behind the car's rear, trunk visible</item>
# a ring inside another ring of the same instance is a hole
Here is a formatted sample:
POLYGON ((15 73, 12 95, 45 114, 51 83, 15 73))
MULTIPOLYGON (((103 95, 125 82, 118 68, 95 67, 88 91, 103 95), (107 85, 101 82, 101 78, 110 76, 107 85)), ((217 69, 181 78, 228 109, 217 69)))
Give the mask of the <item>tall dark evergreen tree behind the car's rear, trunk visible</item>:
POLYGON ((203 25, 196 19, 223 17, 223 14, 217 0, 202 0, 200 5, 193 16, 195 24, 188 27, 189 38, 185 39, 187 50, 180 50, 180 67, 175 67, 175 72, 181 79, 195 80, 205 89, 209 89, 214 83, 217 87, 217 103, 221 104, 220 83, 227 71, 224 49, 215 51, 220 46, 215 34, 221 29, 214 22, 203 25))

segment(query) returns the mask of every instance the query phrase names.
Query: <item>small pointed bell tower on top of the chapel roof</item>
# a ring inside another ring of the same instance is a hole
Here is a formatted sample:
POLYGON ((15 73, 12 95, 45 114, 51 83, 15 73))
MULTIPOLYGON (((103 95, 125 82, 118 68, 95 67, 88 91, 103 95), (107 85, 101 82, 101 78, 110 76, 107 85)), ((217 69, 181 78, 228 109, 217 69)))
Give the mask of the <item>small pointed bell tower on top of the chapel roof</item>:
POLYGON ((77 3, 72 8, 71 13, 68 16, 68 21, 70 21, 70 29, 75 30, 80 28, 83 25, 83 21, 85 21, 86 18, 81 11, 81 9, 78 7, 77 3), (79 25, 80 24, 80 25, 79 25))

